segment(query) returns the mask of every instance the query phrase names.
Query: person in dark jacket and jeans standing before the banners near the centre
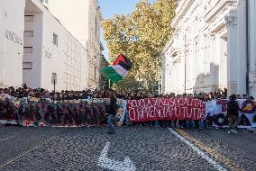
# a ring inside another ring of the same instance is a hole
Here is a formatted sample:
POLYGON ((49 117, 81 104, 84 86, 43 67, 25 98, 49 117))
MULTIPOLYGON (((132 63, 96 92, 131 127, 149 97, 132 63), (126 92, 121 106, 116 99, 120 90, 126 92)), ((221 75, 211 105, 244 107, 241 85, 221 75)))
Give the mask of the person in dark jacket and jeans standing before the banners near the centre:
POLYGON ((108 123, 108 131, 107 133, 113 134, 114 133, 114 117, 116 115, 117 112, 117 104, 116 104, 117 100, 115 97, 114 92, 111 92, 111 96, 110 96, 110 104, 108 106, 108 110, 107 110, 107 123, 108 123))

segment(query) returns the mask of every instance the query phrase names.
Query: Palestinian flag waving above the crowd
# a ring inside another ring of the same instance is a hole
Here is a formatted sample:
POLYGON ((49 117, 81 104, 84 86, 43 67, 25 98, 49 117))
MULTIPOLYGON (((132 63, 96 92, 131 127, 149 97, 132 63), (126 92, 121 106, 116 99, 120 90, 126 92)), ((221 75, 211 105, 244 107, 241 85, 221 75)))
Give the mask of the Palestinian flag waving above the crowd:
POLYGON ((126 58, 123 54, 120 54, 114 61, 113 66, 104 67, 101 72, 104 76, 110 79, 112 82, 117 83, 120 81, 133 67, 133 63, 126 58))

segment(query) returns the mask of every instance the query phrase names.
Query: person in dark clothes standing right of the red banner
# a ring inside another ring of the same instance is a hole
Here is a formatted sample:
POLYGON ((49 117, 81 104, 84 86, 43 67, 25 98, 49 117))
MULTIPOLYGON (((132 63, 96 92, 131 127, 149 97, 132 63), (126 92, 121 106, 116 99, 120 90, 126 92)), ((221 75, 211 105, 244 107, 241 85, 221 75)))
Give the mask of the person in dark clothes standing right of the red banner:
POLYGON ((238 133, 235 130, 240 121, 238 110, 239 106, 236 102, 236 95, 233 94, 229 97, 229 103, 227 103, 228 133, 238 133))

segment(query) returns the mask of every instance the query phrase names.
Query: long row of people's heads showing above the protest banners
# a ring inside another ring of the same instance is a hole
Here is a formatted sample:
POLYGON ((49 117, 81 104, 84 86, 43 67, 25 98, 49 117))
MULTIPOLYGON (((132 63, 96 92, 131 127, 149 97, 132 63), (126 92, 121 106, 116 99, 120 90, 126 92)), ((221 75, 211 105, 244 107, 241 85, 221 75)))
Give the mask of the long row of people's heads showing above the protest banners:
MULTIPOLYGON (((32 89, 28 88, 26 85, 19 88, 8 87, 8 88, 0 88, 0 94, 9 94, 11 96, 17 98, 23 97, 36 97, 36 98, 49 98, 54 101, 63 101, 63 100, 79 100, 79 99, 87 99, 87 98, 108 98, 110 97, 111 91, 108 90, 83 90, 83 91, 68 91, 62 90, 60 92, 48 91, 43 88, 32 89)), ((193 97, 198 98, 203 101, 211 101, 211 100, 220 100, 220 99, 228 99, 227 89, 224 90, 217 88, 215 92, 211 93, 197 93, 194 94, 153 94, 150 91, 141 91, 138 90, 136 92, 126 92, 126 91, 114 91, 116 98, 125 99, 125 100, 139 100, 144 98, 156 98, 156 97, 169 97, 169 98, 182 98, 182 97, 193 97)), ((254 99, 252 96, 247 97, 245 94, 237 94, 237 99, 254 99)))

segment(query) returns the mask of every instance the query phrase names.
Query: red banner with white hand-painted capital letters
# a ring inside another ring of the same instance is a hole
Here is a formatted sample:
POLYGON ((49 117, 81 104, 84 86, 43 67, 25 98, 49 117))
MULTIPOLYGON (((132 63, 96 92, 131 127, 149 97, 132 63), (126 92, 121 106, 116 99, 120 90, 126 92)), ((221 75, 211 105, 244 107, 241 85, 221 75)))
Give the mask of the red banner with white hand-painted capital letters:
POLYGON ((131 121, 201 120, 206 118, 206 103, 193 98, 150 98, 129 100, 131 121))

